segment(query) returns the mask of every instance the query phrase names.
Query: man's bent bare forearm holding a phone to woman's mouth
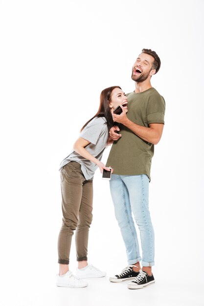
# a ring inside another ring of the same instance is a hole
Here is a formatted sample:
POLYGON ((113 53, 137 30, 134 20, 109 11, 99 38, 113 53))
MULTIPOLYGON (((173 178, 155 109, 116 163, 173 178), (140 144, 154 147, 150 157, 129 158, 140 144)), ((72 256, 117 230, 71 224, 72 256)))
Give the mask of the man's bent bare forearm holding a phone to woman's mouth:
POLYGON ((133 131, 137 136, 139 136, 145 141, 153 143, 154 145, 157 145, 159 143, 159 140, 161 139, 164 126, 163 123, 152 123, 149 124, 148 128, 140 126, 128 119, 124 109, 120 115, 113 114, 113 120, 123 124, 129 130, 133 131))

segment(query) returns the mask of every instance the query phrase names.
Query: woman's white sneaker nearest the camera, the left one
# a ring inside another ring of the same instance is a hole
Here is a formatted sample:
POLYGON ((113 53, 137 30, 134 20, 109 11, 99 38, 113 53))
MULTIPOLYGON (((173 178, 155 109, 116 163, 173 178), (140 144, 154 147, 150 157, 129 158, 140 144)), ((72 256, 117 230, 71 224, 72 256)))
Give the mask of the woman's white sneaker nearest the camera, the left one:
POLYGON ((74 276, 71 271, 68 271, 63 275, 57 274, 56 285, 58 287, 82 288, 87 287, 88 283, 74 276))

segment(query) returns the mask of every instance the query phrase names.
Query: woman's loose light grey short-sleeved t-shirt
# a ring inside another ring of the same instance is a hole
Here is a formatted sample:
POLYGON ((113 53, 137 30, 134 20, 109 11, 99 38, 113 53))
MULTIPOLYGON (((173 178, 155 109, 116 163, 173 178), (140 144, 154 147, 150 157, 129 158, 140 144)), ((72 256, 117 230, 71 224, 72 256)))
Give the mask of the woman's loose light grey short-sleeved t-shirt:
MULTIPOLYGON (((93 118, 79 136, 90 141, 90 144, 86 146, 86 150, 95 158, 101 160, 109 136, 105 117, 93 118)), ((81 170, 86 180, 93 179, 94 172, 98 166, 74 150, 61 162, 59 170, 70 161, 76 161, 81 165, 81 170)))

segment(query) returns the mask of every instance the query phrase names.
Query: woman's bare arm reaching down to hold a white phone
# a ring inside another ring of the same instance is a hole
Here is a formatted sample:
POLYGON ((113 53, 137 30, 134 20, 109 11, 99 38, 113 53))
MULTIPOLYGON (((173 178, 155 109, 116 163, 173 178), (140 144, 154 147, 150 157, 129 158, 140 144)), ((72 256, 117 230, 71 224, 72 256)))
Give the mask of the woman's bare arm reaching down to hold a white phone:
POLYGON ((74 143, 74 146, 73 146, 73 149, 76 153, 80 154, 81 156, 83 156, 84 158, 86 159, 89 159, 91 160, 94 164, 96 164, 99 169, 100 169, 100 172, 102 173, 103 172, 103 169, 106 169, 109 171, 109 168, 105 167, 105 165, 100 161, 98 160, 97 158, 95 158, 94 156, 92 156, 86 149, 85 147, 90 144, 90 141, 82 138, 82 137, 79 137, 77 139, 77 141, 74 143))

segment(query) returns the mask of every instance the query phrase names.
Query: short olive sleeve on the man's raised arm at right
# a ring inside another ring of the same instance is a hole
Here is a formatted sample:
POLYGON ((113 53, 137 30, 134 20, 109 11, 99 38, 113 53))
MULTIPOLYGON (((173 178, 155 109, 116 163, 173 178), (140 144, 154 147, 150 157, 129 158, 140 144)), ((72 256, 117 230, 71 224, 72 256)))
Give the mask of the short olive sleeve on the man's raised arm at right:
POLYGON ((165 101, 159 94, 150 96, 147 106, 147 123, 164 124, 165 101))

